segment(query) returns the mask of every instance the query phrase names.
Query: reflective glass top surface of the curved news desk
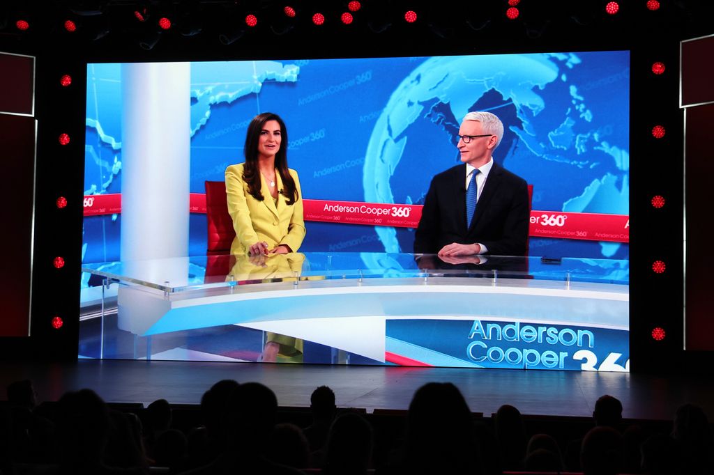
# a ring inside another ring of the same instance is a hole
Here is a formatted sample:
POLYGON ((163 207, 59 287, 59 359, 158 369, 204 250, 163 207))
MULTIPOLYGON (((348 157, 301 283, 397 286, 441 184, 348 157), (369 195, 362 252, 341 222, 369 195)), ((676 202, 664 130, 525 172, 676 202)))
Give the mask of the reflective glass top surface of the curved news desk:
POLYGON ((438 257, 384 252, 201 255, 82 265, 100 279, 164 292, 296 280, 481 277, 629 285, 629 261, 563 257, 438 257))

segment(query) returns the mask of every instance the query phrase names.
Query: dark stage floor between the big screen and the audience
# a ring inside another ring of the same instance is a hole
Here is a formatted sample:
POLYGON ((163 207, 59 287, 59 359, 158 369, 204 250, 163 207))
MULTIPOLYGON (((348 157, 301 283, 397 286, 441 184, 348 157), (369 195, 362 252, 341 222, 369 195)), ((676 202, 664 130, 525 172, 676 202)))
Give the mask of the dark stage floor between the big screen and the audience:
POLYGON ((588 417, 595 400, 610 394, 623 403, 623 417, 672 419, 680 404, 703 407, 714 420, 714 382, 690 375, 653 376, 615 372, 526 371, 371 367, 318 364, 171 362, 79 359, 66 363, 0 362, 0 384, 31 379, 39 401, 64 392, 94 389, 106 402, 167 399, 198 404, 203 392, 221 379, 261 382, 273 389, 281 406, 309 406, 310 394, 328 385, 338 407, 407 409, 418 387, 452 382, 473 412, 490 415, 501 404, 522 414, 588 417))

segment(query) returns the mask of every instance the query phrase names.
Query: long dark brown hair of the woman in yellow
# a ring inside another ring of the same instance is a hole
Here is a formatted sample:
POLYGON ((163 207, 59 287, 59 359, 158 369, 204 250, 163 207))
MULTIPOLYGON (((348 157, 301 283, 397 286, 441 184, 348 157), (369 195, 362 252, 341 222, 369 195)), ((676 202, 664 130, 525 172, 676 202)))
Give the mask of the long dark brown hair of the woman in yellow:
POLYGON ((248 193, 258 201, 263 200, 261 194, 261 171, 258 170, 258 141, 260 141, 263 126, 268 121, 277 121, 280 124, 281 143, 278 153, 275 154, 275 169, 283 180, 283 188, 279 192, 288 198, 287 204, 292 205, 298 200, 298 188, 295 180, 288 172, 288 129, 283 119, 277 114, 263 112, 253 117, 246 133, 246 145, 243 154, 246 155, 246 164, 243 165, 243 180, 248 183, 248 193))

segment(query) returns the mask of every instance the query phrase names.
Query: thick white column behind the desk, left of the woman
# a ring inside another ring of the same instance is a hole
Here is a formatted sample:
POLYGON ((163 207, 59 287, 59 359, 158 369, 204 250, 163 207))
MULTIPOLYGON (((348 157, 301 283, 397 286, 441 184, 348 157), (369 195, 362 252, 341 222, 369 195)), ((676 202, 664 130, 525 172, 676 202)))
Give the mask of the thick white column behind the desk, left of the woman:
POLYGON ((188 255, 190 63, 121 67, 121 260, 188 255))

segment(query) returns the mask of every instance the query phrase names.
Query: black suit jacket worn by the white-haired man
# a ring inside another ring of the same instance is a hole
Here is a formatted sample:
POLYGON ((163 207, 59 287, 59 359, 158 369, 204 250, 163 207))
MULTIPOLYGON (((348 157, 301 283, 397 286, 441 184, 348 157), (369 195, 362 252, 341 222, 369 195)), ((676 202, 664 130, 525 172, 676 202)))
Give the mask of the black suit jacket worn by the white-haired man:
POLYGON ((526 180, 494 162, 466 229, 466 165, 456 165, 431 180, 414 252, 435 254, 452 242, 478 242, 488 254, 525 255, 530 208, 526 180))

